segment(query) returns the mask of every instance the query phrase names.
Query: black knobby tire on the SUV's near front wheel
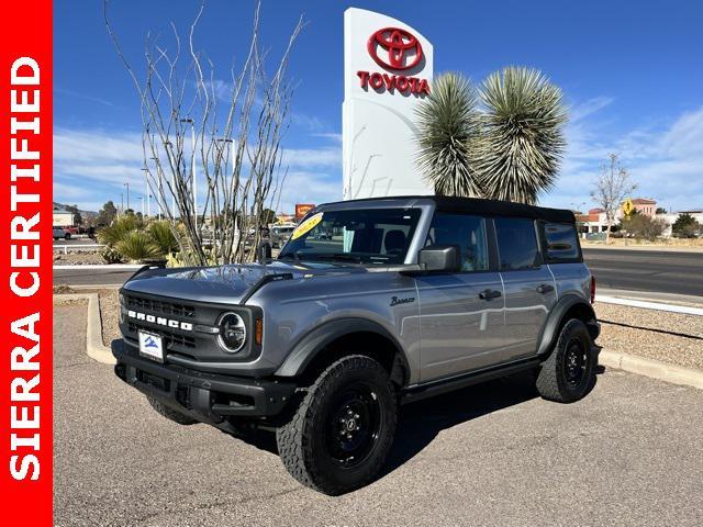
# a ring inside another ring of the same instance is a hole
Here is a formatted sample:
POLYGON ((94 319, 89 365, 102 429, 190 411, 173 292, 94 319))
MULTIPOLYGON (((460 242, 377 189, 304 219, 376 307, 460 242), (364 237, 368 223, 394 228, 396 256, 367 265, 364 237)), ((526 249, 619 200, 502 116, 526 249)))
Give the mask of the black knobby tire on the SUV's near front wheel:
POLYGON ((377 475, 386 461, 395 434, 397 411, 395 390, 383 367, 366 356, 344 357, 320 374, 291 419, 276 430, 281 461, 295 480, 324 494, 339 495, 359 489, 377 475), (378 408, 378 433, 370 435, 376 439, 367 447, 368 453, 353 461, 357 464, 345 467, 348 461, 335 458, 334 447, 330 447, 334 437, 331 430, 339 426, 335 418, 339 416, 339 401, 356 386, 371 394, 367 402, 378 408))

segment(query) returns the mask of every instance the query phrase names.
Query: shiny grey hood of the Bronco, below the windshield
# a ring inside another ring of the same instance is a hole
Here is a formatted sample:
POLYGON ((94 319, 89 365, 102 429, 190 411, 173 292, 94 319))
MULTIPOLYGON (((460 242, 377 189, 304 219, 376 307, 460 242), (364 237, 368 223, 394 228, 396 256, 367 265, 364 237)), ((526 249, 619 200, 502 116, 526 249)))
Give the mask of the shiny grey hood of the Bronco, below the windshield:
POLYGON ((271 279, 306 279, 315 276, 349 274, 365 272, 355 266, 320 262, 274 261, 261 264, 232 264, 219 267, 186 269, 149 269, 137 272, 123 285, 125 291, 171 296, 196 302, 238 303, 256 288, 266 276, 271 279))

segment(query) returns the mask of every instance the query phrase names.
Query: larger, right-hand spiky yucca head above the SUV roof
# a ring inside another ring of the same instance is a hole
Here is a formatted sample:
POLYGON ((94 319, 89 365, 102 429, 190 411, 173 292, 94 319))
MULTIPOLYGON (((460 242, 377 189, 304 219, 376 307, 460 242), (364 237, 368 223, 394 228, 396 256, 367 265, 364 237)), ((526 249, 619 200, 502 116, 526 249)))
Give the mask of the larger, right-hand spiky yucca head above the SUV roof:
POLYGON ((561 90, 538 70, 507 67, 480 89, 476 170, 486 198, 535 203, 555 182, 566 142, 561 90))

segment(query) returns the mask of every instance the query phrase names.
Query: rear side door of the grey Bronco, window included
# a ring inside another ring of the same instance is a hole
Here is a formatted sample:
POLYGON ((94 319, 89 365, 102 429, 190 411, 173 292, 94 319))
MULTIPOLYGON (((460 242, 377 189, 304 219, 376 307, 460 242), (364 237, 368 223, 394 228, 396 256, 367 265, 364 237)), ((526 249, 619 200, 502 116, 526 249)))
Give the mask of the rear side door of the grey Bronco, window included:
POLYGON ((535 355, 537 338, 557 302, 556 283, 544 262, 534 220, 494 220, 500 273, 505 292, 506 356, 535 355))

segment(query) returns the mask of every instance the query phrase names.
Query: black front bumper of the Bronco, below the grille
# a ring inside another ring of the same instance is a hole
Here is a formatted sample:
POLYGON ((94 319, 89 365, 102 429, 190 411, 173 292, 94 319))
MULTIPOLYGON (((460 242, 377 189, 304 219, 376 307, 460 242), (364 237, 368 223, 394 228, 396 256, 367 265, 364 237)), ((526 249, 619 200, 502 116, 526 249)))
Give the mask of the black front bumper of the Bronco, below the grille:
POLYGON ((115 374, 141 392, 197 421, 219 424, 227 417, 272 417, 282 412, 297 385, 196 371, 161 365, 138 355, 122 339, 112 341, 115 374))

